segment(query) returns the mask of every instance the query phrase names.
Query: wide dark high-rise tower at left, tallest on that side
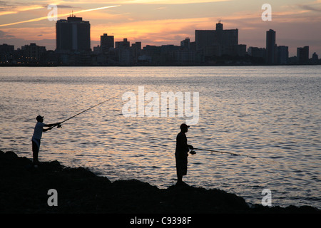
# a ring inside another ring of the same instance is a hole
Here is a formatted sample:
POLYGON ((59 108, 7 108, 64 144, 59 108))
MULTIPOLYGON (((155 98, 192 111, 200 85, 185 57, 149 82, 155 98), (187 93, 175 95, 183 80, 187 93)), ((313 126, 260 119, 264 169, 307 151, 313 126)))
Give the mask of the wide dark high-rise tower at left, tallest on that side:
POLYGON ((91 24, 69 16, 56 22, 56 48, 59 52, 91 51, 91 24))

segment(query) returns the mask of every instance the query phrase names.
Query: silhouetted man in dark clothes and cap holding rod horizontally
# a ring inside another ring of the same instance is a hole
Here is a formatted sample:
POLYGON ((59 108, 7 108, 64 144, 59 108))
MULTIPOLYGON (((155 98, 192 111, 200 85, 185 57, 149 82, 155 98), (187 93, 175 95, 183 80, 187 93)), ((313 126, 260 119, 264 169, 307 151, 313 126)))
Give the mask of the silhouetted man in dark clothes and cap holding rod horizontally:
POLYGON ((180 125, 180 133, 176 137, 176 150, 175 150, 175 160, 176 160, 176 172, 177 172, 177 184, 183 184, 183 176, 187 175, 187 165, 188 165, 188 150, 193 150, 192 145, 187 144, 187 138, 185 133, 188 132, 190 126, 185 123, 180 125))

